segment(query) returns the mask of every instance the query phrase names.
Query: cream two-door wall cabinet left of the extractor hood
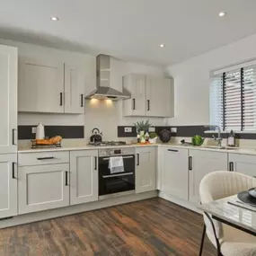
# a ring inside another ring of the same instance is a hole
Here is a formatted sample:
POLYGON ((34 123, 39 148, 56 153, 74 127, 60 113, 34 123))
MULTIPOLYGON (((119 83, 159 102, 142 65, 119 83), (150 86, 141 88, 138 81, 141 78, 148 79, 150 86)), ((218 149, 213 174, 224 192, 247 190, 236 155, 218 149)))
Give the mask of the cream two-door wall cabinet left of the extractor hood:
POLYGON ((19 57, 18 110, 83 114, 85 76, 91 84, 95 70, 90 60, 76 64, 54 57, 19 57))

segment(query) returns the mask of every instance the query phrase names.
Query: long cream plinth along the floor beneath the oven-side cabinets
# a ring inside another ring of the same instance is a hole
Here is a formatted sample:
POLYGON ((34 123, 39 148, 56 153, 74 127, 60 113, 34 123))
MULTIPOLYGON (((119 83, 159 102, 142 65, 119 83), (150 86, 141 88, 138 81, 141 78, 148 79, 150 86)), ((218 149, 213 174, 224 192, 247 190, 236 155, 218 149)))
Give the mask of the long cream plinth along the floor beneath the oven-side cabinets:
POLYGON ((0 221, 0 228, 9 227, 13 225, 22 225, 31 222, 36 222, 40 220, 46 220, 50 218, 55 218, 59 216, 68 216, 73 215, 81 212, 86 212, 90 210, 95 210, 104 207, 112 207, 121 204, 127 204, 130 202, 135 202, 144 199, 152 199, 157 197, 157 190, 133 194, 128 196, 123 196, 114 199, 104 199, 99 200, 91 203, 85 203, 76 206, 69 206, 69 207, 61 207, 56 209, 51 209, 47 211, 35 212, 31 214, 21 215, 21 216, 13 216, 13 218, 5 219, 0 221))

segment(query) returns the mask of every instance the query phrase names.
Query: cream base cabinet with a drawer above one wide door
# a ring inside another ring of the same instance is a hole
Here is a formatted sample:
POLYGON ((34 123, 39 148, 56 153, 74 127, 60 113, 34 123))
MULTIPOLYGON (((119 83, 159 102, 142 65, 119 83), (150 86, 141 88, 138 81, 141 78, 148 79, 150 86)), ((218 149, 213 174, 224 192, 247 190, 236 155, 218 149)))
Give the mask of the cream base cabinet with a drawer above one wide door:
POLYGON ((69 152, 18 154, 19 214, 69 205, 69 152))

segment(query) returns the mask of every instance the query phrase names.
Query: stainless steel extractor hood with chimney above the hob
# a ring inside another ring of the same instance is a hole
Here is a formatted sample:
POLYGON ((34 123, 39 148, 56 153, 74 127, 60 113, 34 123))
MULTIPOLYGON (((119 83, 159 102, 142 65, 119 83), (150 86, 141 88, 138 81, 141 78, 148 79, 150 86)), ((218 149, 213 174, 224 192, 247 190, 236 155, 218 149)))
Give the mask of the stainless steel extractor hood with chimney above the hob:
POLYGON ((96 57, 97 84, 96 89, 86 99, 110 99, 113 101, 129 99, 128 93, 121 93, 110 87, 110 56, 100 54, 96 57))

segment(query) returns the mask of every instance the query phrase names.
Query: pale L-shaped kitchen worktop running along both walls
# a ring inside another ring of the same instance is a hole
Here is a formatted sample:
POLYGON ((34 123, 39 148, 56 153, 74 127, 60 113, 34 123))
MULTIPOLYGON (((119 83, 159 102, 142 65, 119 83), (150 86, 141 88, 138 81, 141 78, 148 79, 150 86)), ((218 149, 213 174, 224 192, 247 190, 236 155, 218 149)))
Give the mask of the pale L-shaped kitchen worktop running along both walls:
POLYGON ((164 146, 164 147, 176 147, 176 148, 187 148, 187 149, 198 149, 205 151, 216 151, 223 153, 233 154, 256 154, 255 148, 239 147, 234 149, 219 149, 214 147, 204 146, 183 146, 177 143, 157 143, 157 144, 127 144, 126 146, 89 146, 89 145, 74 145, 74 146, 62 146, 57 148, 30 148, 28 146, 19 146, 18 153, 39 153, 39 152, 52 152, 52 151, 74 151, 74 150, 92 150, 92 149, 106 149, 106 148, 119 148, 119 147, 144 147, 144 146, 164 146))

